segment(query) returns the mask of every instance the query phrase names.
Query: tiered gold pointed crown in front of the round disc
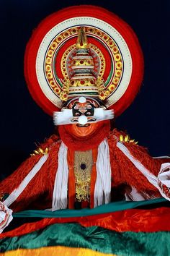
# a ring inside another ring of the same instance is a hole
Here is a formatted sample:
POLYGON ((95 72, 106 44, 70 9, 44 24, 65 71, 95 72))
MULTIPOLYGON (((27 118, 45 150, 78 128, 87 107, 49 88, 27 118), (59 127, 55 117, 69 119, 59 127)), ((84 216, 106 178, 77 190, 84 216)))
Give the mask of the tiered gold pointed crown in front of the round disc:
POLYGON ((89 43, 84 27, 79 29, 76 40, 76 54, 71 60, 73 75, 70 80, 63 81, 62 101, 76 96, 90 96, 105 100, 108 93, 104 87, 104 80, 94 75, 94 58, 89 50, 89 43))

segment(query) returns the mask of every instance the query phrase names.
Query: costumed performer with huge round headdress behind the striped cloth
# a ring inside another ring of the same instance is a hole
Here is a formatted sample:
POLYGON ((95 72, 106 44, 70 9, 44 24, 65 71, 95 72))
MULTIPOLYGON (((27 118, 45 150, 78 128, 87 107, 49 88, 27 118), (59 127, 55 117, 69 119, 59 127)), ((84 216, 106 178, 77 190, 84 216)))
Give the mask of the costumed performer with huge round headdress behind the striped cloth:
POLYGON ((43 20, 27 44, 32 98, 58 135, 0 184, 0 229, 12 211, 95 208, 170 197, 168 158, 152 158, 112 119, 133 102, 143 54, 133 30, 100 7, 68 7, 43 20))

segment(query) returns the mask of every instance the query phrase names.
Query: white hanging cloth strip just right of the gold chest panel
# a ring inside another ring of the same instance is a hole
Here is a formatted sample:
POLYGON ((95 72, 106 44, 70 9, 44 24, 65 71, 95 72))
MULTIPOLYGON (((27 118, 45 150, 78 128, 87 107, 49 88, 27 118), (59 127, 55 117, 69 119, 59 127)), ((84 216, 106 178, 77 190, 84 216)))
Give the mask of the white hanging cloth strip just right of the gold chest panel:
POLYGON ((94 187, 94 207, 110 202, 111 176, 109 145, 107 139, 104 139, 98 147, 97 180, 94 187))

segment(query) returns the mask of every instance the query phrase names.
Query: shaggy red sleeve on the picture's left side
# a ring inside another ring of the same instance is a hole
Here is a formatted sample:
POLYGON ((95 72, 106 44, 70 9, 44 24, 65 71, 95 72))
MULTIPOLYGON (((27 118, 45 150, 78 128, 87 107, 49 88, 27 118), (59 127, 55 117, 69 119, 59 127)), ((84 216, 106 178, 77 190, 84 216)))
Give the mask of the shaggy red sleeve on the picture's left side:
MULTIPOLYGON (((56 141, 58 140, 53 140, 53 138, 50 137, 44 144, 40 145, 42 150, 48 148, 48 159, 42 165, 40 171, 35 174, 30 183, 27 184, 27 187, 21 195, 17 197, 17 200, 9 206, 14 212, 27 209, 30 205, 34 205, 35 208, 48 208, 47 204, 52 200, 51 194, 58 166, 58 148, 60 143, 56 141)), ((19 184, 27 174, 29 174, 41 157, 42 154, 40 153, 27 158, 13 174, 0 183, 0 191, 10 194, 14 189, 17 189, 19 184)))

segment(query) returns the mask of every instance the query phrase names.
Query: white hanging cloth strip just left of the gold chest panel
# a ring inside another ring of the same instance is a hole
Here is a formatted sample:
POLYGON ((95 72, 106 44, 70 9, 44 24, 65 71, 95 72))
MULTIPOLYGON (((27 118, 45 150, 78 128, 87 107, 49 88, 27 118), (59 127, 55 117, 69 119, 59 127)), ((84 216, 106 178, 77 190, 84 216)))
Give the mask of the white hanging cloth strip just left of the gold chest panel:
POLYGON ((58 170, 55 176, 53 189, 52 210, 66 209, 68 191, 68 163, 67 163, 67 147, 61 142, 61 147, 58 151, 58 170))

